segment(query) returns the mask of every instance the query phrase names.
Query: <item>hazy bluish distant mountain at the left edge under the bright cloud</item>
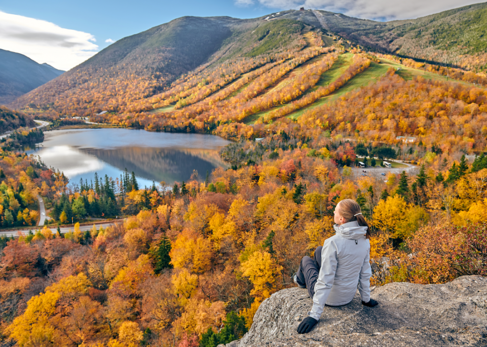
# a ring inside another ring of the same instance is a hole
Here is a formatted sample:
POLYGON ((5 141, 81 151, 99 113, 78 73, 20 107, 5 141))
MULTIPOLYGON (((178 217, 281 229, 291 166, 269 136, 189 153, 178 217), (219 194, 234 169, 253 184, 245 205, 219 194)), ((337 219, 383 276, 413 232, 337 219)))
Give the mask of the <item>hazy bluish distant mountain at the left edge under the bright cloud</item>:
POLYGON ((63 72, 22 54, 0 49, 0 104, 12 102, 63 72))

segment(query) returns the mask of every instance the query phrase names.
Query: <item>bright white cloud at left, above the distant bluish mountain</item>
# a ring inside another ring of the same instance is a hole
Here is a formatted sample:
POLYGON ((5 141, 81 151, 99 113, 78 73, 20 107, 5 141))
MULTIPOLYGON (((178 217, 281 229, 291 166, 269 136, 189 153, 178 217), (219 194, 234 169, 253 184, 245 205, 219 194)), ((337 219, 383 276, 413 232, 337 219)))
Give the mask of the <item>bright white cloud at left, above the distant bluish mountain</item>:
POLYGON ((40 64, 69 70, 97 53, 95 41, 93 35, 82 31, 0 11, 0 48, 40 64))

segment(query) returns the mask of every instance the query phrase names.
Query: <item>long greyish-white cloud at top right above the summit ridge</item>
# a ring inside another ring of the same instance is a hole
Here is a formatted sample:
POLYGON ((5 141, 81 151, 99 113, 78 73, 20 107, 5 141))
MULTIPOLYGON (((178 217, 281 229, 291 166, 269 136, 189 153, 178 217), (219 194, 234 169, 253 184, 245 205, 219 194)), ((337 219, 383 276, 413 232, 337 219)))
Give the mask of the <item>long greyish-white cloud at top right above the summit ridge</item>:
MULTIPOLYGON (((235 0, 252 2, 252 0, 235 0)), ((343 13, 351 17, 366 19, 412 19, 438 13, 447 9, 462 7, 479 2, 478 0, 257 0, 269 8, 289 9, 305 7, 306 9, 323 9, 343 13)))

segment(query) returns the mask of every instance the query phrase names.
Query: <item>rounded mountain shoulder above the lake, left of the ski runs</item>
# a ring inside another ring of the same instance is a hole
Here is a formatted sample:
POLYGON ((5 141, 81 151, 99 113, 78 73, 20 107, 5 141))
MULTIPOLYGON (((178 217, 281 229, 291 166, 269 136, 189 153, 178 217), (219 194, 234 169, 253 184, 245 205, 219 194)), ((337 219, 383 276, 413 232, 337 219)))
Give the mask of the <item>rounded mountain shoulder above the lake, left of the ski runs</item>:
MULTIPOLYGON (((289 20, 177 18, 118 40, 12 105, 25 107, 35 102, 45 110, 53 103, 57 112, 73 115, 78 114, 73 110, 78 111, 79 106, 90 108, 87 115, 104 109, 130 111, 127 103, 157 94, 191 70, 202 71, 216 62, 230 67, 245 58, 283 51, 292 46, 302 27, 289 20), (64 107, 68 100, 69 108, 64 107)), ((235 68, 224 70, 221 73, 231 74, 235 68)))

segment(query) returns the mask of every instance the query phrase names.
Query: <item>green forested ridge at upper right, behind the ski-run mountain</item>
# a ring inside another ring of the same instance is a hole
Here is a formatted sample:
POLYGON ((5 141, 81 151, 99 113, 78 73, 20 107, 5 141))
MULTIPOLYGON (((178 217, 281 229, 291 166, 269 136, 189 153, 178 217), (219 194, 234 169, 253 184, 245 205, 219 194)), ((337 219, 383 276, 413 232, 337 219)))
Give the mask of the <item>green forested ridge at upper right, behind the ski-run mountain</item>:
POLYGON ((487 2, 389 22, 319 12, 330 31, 370 49, 463 69, 487 69, 487 2))

